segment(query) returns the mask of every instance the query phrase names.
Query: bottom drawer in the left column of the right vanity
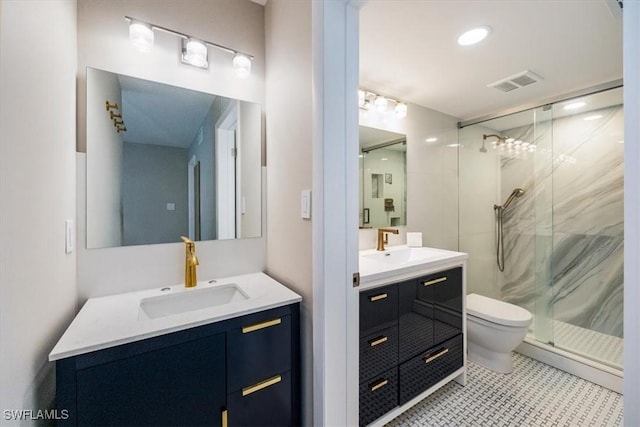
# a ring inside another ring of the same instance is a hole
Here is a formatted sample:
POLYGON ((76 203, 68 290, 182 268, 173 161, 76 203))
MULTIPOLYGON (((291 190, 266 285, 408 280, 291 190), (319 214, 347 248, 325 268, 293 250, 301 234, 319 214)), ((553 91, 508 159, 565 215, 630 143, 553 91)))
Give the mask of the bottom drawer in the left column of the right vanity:
POLYGON ((360 383, 360 425, 380 418, 398 406, 398 368, 360 383))

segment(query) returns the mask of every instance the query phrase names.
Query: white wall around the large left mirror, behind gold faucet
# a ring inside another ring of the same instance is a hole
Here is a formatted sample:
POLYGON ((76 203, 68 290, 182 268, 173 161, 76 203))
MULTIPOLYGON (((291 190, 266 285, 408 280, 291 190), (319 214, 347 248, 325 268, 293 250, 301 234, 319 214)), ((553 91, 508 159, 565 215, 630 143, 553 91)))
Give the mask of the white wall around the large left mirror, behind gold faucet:
MULTIPOLYGON (((264 7, 249 0, 167 0, 161 6, 153 0, 80 0, 77 105, 78 151, 81 152, 86 147, 86 67, 262 104, 264 7), (208 70, 181 64, 179 38, 159 31, 155 32, 153 50, 141 53, 129 43, 125 15, 252 54, 255 58, 251 77, 237 79, 231 67, 231 56, 212 48, 209 49, 211 65, 208 70)), ((84 183, 78 184, 78 196, 84 198, 84 183)), ((84 216, 82 203, 78 204, 78 214, 84 216)), ((91 296, 184 281, 182 243, 85 250, 83 232, 79 228, 80 302, 91 296)), ((262 237, 198 243, 198 277, 204 280, 263 270, 265 241, 262 237)))

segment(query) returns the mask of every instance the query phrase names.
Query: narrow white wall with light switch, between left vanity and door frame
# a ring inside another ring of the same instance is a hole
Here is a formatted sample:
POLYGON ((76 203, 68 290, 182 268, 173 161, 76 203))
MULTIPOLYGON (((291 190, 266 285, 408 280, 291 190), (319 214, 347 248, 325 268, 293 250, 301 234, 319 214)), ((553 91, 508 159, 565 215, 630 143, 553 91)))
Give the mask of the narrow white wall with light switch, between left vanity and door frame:
POLYGON ((300 218, 300 192, 312 186, 311 2, 270 0, 265 24, 266 271, 302 295, 302 422, 311 425, 312 230, 300 218))

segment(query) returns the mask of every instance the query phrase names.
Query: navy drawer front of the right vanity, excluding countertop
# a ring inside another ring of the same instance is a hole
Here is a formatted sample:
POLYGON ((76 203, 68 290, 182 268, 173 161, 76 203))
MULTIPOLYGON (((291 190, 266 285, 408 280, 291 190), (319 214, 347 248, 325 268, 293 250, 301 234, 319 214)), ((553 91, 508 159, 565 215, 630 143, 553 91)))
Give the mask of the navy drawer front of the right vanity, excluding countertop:
POLYGON ((464 365, 462 267, 360 293, 360 419, 367 425, 464 365))

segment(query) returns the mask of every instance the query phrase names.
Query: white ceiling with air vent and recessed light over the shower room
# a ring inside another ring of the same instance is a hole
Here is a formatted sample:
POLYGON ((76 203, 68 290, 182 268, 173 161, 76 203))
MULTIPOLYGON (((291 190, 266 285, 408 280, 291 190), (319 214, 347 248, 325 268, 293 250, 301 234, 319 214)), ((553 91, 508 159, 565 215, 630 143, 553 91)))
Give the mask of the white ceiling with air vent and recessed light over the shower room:
POLYGON ((622 78, 614 0, 369 0, 360 13, 360 86, 468 120, 622 78), (464 31, 488 25, 475 46, 464 31), (530 70, 511 92, 487 85, 530 70))

